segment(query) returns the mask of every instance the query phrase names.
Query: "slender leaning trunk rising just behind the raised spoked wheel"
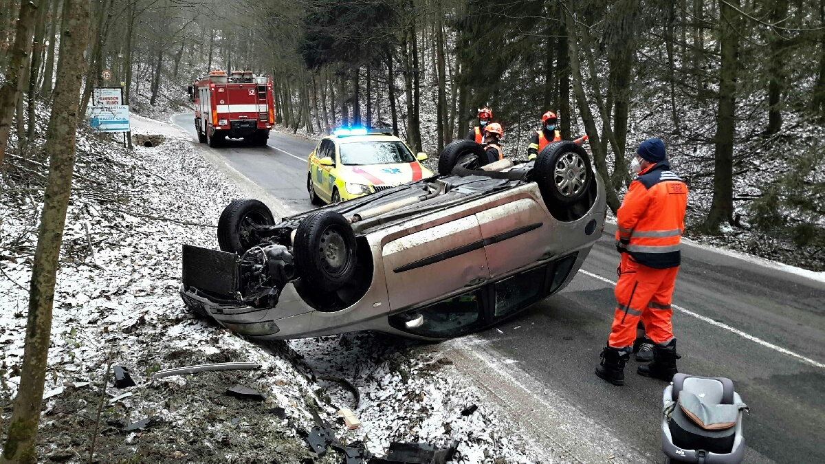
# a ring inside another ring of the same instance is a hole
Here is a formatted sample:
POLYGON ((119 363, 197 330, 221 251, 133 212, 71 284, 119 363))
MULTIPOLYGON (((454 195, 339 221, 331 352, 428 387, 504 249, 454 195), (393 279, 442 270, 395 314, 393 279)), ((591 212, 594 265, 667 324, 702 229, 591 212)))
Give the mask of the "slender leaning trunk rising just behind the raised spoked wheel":
MULTIPOLYGON (((596 130, 596 121, 593 120, 593 115, 587 102, 587 96, 584 93, 584 86, 582 83, 582 65, 580 64, 578 58, 576 23, 573 21, 573 16, 571 16, 570 12, 572 10, 570 7, 571 6, 568 4, 564 13, 564 22, 568 33, 568 59, 570 73, 573 76, 573 93, 576 95, 578 111, 582 115, 582 122, 584 122, 585 129, 587 131, 587 138, 590 141, 590 146, 593 152, 593 163, 596 164, 596 171, 598 171, 604 182, 609 183, 610 173, 607 170, 607 156, 601 149, 602 145, 599 141, 598 130, 596 130)), ((605 191, 607 194, 607 206, 610 207, 610 211, 613 211, 615 214, 615 212, 619 209, 619 206, 621 206, 619 197, 616 196, 615 189, 611 185, 606 185, 605 191)))

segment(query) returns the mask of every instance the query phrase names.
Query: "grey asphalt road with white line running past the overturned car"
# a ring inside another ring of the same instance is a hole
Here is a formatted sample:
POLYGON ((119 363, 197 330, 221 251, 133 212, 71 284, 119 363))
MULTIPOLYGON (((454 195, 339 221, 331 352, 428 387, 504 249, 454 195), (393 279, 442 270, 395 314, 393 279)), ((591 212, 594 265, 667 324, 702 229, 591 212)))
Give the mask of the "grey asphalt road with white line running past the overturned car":
MULTIPOLYGON (((175 121, 194 136, 191 117, 175 121)), ((304 159, 314 143, 272 132, 269 144, 229 143, 219 153, 288 206, 312 208, 304 159)), ((564 291, 499 325, 502 333, 479 336, 509 366, 658 459, 667 384, 638 376, 635 362, 623 387, 593 373, 615 308, 619 257, 609 230, 564 291)), ((691 244, 682 257, 673 299, 680 372, 733 379, 752 408, 746 462, 825 462, 825 283, 691 244)))

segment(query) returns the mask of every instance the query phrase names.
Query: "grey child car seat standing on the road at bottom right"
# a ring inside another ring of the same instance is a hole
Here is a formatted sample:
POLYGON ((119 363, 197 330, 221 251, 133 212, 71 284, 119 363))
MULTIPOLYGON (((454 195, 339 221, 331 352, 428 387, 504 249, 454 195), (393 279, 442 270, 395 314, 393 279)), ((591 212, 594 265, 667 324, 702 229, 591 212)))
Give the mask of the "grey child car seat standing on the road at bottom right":
POLYGON ((662 397, 662 451, 668 462, 742 462, 742 410, 724 377, 676 374, 662 397))

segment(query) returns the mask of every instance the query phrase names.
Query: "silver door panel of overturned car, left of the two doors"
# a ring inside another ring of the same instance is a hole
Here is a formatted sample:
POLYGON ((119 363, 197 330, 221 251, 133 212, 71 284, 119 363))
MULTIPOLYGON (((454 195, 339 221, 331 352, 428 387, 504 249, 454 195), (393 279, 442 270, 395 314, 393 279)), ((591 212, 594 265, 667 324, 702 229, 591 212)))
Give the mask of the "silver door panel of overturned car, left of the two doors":
POLYGON ((440 300, 490 277, 479 220, 451 220, 384 245, 390 310, 440 300))

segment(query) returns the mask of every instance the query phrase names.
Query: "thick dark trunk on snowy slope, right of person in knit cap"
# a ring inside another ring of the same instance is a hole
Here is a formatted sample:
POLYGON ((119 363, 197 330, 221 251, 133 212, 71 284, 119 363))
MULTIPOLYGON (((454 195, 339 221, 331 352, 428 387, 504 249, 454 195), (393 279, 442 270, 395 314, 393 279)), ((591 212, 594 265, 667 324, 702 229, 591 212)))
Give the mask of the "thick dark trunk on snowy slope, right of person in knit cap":
MULTIPOLYGON (((728 0, 736 7, 739 0, 728 0)), ((719 41, 722 61, 719 69, 719 111, 714 137, 714 196, 705 221, 709 231, 719 230, 723 222, 733 221, 733 135, 736 129, 736 79, 739 62, 739 13, 728 2, 720 2, 719 41)))

